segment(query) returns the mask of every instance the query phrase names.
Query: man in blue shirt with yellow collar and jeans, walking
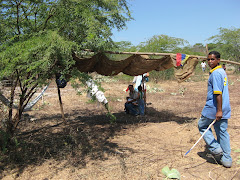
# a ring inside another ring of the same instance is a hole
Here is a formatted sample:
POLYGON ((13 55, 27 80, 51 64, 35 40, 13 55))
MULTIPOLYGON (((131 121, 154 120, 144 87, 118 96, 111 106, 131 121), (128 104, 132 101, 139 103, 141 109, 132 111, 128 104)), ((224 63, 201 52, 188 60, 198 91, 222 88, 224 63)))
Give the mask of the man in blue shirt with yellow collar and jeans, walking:
POLYGON ((228 79, 224 69, 219 65, 220 53, 212 51, 208 54, 208 65, 211 68, 208 79, 208 93, 206 105, 202 110, 202 116, 198 121, 198 128, 201 134, 216 119, 214 129, 217 140, 212 130, 203 136, 208 149, 213 155, 221 155, 221 163, 224 167, 232 166, 230 137, 227 132, 228 119, 231 116, 229 103, 228 79))

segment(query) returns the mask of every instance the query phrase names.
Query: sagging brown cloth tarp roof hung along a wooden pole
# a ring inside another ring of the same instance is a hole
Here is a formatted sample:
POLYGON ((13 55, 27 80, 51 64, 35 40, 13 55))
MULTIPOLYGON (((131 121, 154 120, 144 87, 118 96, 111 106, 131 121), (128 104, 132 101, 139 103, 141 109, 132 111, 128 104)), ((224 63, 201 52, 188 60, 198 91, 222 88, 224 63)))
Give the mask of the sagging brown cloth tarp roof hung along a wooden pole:
MULTIPOLYGON (((198 61, 206 60, 204 56, 187 55, 184 64, 177 66, 177 55, 172 53, 144 53, 144 52, 104 52, 97 53, 89 58, 80 58, 73 54, 75 67, 86 73, 97 72, 105 76, 115 76, 124 73, 130 76, 141 75, 152 70, 163 71, 174 67, 178 81, 187 79, 193 74, 198 61), (129 54, 130 57, 116 61, 106 56, 110 54, 129 54), (150 58, 154 56, 154 58, 150 58)), ((226 62, 226 60, 224 60, 226 62)), ((230 62, 230 61, 229 61, 230 62)))

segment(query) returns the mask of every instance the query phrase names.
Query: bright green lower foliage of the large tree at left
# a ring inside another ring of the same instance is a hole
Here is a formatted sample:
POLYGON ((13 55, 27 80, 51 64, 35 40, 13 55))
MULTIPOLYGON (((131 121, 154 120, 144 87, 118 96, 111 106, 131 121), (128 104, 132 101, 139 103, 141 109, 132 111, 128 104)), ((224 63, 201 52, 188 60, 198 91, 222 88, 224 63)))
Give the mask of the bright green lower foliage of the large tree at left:
POLYGON ((22 83, 34 80, 34 83, 45 84, 58 72, 69 73, 74 64, 72 49, 76 47, 75 42, 64 40, 56 31, 19 40, 0 53, 0 77, 11 77, 17 71, 22 83))

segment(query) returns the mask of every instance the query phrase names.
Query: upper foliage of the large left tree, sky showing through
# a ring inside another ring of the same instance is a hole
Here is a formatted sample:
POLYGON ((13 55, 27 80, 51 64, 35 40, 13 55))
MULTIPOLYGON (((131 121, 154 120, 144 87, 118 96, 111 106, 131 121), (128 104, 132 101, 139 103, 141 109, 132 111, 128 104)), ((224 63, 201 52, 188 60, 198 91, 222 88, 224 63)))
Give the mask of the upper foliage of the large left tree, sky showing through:
POLYGON ((81 46, 103 47, 112 28, 122 29, 131 19, 126 0, 8 0, 0 1, 0 13, 1 44, 16 35, 54 30, 81 46))

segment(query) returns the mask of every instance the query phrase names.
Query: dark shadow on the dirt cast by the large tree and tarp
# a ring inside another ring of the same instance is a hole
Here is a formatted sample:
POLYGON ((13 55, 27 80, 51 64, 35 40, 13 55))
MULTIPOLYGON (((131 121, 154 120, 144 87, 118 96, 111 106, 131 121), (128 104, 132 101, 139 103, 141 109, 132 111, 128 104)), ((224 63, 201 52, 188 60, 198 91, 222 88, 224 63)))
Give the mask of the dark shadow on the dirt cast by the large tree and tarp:
POLYGON ((118 147, 110 138, 128 128, 138 128, 146 123, 175 121, 189 123, 193 119, 178 117, 174 113, 147 108, 145 116, 115 113, 116 123, 110 124, 105 114, 85 110, 73 110, 66 114, 67 124, 61 116, 41 117, 35 121, 24 119, 20 123, 17 142, 1 155, 0 173, 4 168, 17 168, 18 174, 29 165, 40 165, 47 159, 67 160, 66 166, 85 167, 89 159, 105 160, 107 154, 119 155, 117 149, 134 152, 127 147, 118 147))

